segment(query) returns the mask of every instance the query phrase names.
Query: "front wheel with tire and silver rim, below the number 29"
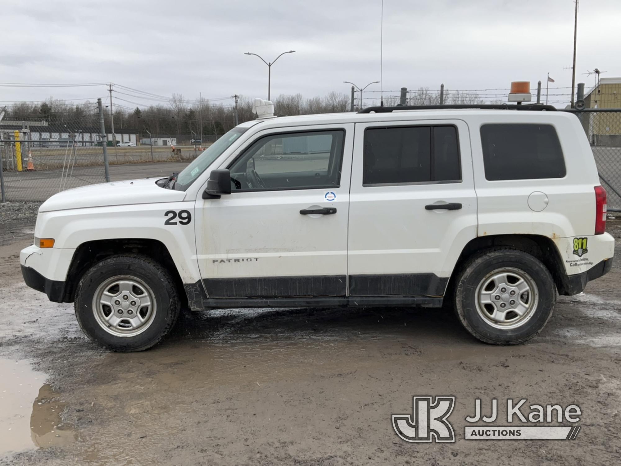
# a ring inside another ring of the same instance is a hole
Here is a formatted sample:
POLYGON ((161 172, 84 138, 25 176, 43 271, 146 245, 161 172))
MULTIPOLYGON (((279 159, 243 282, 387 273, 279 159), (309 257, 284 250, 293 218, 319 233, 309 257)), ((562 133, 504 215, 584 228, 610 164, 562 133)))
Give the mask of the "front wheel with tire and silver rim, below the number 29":
POLYGON ((79 326, 113 351, 141 351, 160 342, 179 315, 175 283, 148 257, 117 255, 91 267, 76 288, 79 326))

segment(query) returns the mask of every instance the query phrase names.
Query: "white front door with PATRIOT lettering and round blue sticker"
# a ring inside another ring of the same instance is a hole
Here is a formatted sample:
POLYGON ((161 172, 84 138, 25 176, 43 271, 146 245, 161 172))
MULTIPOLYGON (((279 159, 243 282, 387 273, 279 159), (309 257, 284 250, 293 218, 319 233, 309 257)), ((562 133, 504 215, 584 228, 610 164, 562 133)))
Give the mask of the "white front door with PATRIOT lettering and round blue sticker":
POLYGON ((353 128, 264 130, 214 167, 229 168, 232 194, 196 202, 209 298, 346 295, 353 128))

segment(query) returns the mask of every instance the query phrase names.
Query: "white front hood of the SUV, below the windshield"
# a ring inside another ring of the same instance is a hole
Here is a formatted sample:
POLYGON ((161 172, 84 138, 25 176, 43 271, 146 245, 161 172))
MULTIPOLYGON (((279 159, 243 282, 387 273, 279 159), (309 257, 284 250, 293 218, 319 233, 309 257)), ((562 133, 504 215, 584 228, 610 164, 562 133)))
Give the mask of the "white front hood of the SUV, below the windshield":
POLYGON ((183 201, 185 198, 185 191, 160 188, 155 181, 155 178, 114 181, 61 191, 41 204, 39 212, 126 204, 170 203, 183 201))

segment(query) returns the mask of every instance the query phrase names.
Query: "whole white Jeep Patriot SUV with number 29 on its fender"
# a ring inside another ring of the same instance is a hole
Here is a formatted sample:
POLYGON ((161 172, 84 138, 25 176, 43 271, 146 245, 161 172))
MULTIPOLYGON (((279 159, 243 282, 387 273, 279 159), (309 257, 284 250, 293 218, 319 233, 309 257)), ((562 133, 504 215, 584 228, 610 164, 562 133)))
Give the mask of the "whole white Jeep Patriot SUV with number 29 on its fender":
MULTIPOLYGON (((610 270, 606 193, 573 114, 371 107, 260 118, 181 173, 63 191, 22 250, 27 285, 143 350, 181 307, 454 304, 492 344, 610 270)), ((267 110, 266 110, 267 109, 267 110)))

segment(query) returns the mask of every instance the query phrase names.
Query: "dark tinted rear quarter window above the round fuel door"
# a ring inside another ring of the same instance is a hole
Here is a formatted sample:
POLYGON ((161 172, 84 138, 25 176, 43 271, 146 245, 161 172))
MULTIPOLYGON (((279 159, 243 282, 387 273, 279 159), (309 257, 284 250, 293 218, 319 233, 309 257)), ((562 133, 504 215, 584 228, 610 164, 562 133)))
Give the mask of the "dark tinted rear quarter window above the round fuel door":
POLYGON ((489 181, 563 178, 563 150, 556 129, 546 124, 484 124, 481 145, 489 181))

